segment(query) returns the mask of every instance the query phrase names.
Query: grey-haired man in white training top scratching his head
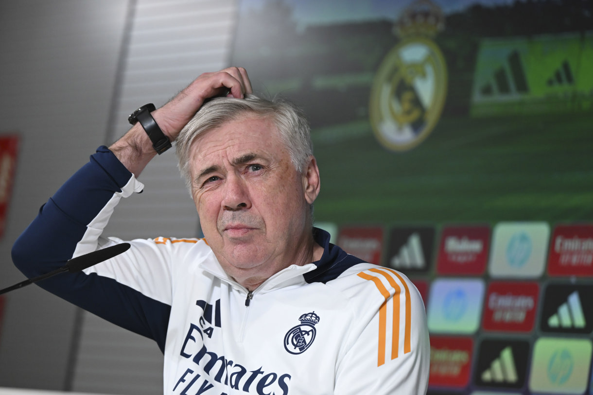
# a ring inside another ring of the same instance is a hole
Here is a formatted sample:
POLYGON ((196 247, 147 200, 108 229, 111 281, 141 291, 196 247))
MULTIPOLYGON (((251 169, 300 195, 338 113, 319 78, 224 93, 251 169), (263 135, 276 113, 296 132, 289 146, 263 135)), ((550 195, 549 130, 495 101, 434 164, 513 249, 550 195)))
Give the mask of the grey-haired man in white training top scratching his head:
POLYGON ((154 339, 165 394, 425 393, 416 288, 313 228, 320 176, 304 117, 251 95, 241 68, 203 74, 150 110, 135 112, 141 122, 99 148, 17 240, 25 275, 120 243, 101 235, 114 206, 142 190, 136 177, 176 141, 205 238, 133 240, 42 286, 154 339))

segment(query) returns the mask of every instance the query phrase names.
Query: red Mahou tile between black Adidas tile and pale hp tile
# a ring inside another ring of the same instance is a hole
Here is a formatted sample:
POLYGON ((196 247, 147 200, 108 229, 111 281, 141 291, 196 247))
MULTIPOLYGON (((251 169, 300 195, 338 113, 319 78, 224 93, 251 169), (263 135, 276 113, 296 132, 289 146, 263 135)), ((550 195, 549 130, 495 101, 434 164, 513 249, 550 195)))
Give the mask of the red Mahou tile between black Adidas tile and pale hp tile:
POLYGON ((454 226, 441 232, 436 270, 439 274, 481 275, 490 248, 490 227, 454 226))

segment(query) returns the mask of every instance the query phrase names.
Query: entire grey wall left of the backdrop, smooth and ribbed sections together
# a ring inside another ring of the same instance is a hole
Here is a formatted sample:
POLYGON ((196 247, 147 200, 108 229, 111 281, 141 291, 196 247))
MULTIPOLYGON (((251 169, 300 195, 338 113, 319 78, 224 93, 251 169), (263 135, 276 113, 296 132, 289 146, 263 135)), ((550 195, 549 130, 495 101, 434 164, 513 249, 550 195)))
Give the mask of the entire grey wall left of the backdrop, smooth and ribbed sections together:
MULTIPOLYGON (((202 72, 227 66, 236 10, 235 0, 0 2, 0 133, 22 138, 0 240, 2 282, 22 279, 9 250, 39 206, 98 145, 126 132, 132 110, 160 106, 202 72), (128 5, 133 15, 126 20, 128 5), (123 42, 129 45, 122 52, 123 42)), ((156 158, 141 180, 145 193, 120 206, 110 234, 196 234, 195 208, 172 151, 156 158)), ((162 393, 162 355, 154 342, 78 311, 34 286, 7 295, 0 386, 162 393), (81 342, 69 376, 76 317, 81 342)))

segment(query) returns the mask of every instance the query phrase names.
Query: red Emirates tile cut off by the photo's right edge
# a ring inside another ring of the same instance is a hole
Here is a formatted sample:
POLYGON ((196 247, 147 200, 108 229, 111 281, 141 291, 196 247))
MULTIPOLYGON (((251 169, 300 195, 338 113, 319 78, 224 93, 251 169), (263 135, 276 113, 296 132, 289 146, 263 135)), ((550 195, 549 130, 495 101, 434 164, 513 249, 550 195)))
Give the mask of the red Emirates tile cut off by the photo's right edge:
POLYGON ((550 276, 593 276, 593 224, 558 225, 548 256, 550 276))

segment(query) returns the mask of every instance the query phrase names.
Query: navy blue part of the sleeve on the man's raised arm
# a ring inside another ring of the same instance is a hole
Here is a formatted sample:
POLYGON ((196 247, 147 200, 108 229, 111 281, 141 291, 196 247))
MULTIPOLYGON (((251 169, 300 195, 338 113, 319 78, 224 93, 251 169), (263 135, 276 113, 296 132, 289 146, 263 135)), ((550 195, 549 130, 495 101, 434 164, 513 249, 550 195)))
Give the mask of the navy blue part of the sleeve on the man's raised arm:
MULTIPOLYGON (((132 179, 105 146, 45 203, 15 241, 12 260, 27 278, 65 265, 87 225, 132 179)), ((111 278, 84 272, 62 273, 38 283, 47 291, 93 314, 157 341, 164 350, 170 306, 111 278)))

